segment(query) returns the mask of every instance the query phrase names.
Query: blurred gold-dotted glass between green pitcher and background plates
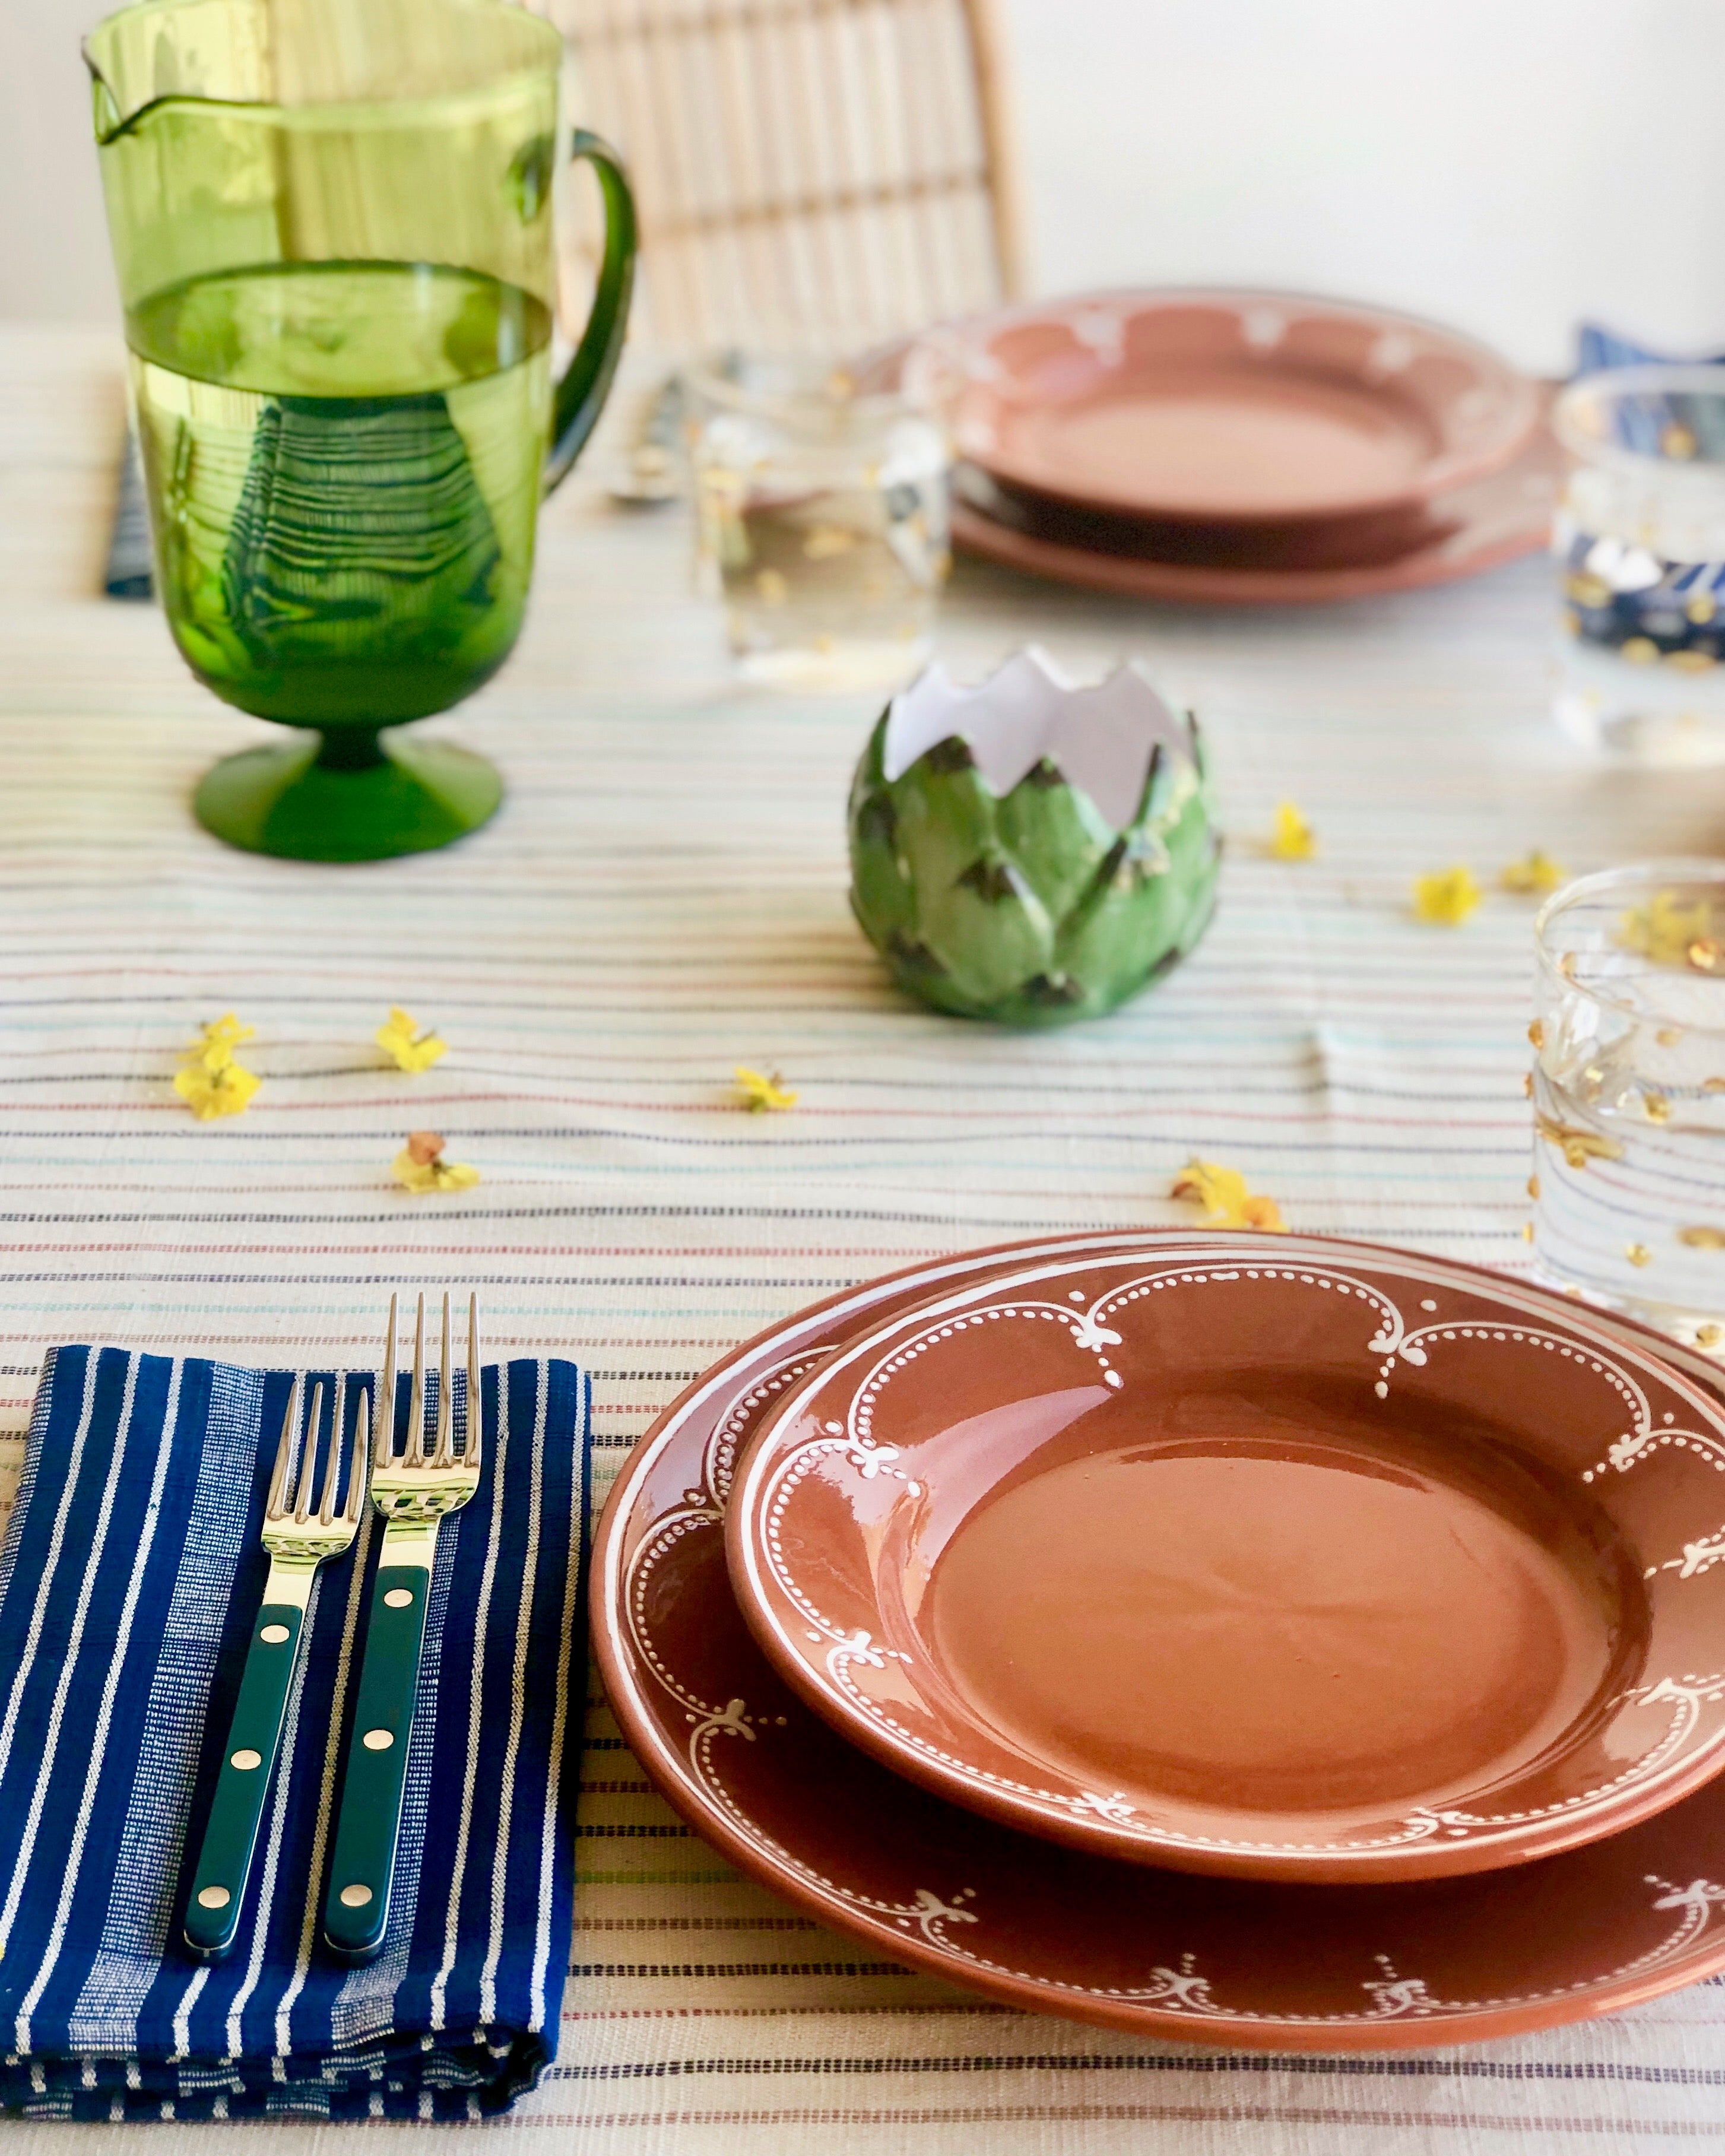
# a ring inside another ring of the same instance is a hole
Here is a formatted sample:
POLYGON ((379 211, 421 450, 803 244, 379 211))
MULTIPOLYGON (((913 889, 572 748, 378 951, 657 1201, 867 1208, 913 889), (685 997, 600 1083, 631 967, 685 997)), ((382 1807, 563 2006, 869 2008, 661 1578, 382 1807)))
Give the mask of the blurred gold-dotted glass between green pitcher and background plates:
POLYGON ((813 360, 696 371, 699 569, 746 679, 891 688, 932 651, 949 567, 947 431, 813 360))

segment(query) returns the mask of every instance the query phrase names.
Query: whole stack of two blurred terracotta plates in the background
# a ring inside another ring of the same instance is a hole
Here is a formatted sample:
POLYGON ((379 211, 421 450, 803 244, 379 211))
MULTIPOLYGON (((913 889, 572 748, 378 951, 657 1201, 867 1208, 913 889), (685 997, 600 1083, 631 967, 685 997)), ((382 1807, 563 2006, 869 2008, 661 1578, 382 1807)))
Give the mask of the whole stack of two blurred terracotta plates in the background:
POLYGON ((1425 321, 1259 291, 1016 308, 912 347, 955 395, 953 530, 1138 597, 1311 604, 1544 545, 1544 392, 1425 321))

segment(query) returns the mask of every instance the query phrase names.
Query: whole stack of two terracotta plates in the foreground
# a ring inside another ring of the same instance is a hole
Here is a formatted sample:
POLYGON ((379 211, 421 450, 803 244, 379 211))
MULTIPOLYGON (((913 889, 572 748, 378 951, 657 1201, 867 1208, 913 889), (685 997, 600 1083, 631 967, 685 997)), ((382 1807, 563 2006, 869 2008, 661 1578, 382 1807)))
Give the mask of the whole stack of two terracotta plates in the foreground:
POLYGON ((785 1319, 599 1529, 740 1869, 1151 2035, 1455 2044, 1725 1968, 1725 1397, 1477 1268, 1052 1238, 785 1319))

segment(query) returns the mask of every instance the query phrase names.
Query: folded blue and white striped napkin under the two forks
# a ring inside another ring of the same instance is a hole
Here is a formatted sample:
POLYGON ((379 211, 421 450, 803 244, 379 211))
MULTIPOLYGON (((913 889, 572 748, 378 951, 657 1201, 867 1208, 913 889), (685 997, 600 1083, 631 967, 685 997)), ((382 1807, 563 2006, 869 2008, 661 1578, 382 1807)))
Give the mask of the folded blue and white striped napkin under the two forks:
POLYGON ((116 1348, 58 1348, 43 1369, 0 1550, 11 2113, 468 2119, 556 2050, 586 1673, 574 1363, 481 1376, 485 1473, 438 1537, 380 1960, 339 1966, 317 1925, 375 1514, 317 1576, 235 1953, 198 1966, 179 1943, 289 1382, 116 1348))

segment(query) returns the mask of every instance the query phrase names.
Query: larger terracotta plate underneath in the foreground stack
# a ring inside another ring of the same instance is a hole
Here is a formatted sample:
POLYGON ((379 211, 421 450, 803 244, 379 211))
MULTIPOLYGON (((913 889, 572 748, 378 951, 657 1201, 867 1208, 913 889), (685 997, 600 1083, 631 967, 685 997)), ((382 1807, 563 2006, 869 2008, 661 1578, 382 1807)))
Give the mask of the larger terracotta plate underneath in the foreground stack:
MULTIPOLYGON (((623 1733, 671 1802, 742 1871, 875 1951, 1138 2035, 1464 2044, 1725 1968, 1721 1781, 1540 1865, 1352 1891, 1223 1880, 1089 1856, 947 1805, 841 1742, 783 1684, 737 1613, 722 1548, 735 1457, 761 1412, 895 1309, 1128 1244, 1143 1238, 1044 1238, 832 1296, 737 1348, 647 1432, 599 1526, 593 1639, 623 1733)), ((1276 1253, 1382 1255, 1311 1238, 1279 1238, 1276 1253)), ((1432 1270, 1458 1291, 1492 1279, 1432 1270)), ((1557 1298, 1542 1309, 1568 1315, 1557 1298)), ((1671 1360, 1706 1376, 1684 1350, 1671 1360)))

